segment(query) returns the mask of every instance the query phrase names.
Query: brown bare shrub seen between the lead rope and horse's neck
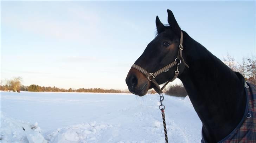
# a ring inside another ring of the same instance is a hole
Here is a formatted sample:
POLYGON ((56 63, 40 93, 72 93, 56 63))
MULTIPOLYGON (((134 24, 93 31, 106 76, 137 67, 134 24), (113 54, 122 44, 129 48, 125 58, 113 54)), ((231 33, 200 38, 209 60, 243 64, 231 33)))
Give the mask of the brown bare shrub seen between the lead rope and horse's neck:
POLYGON ((181 85, 171 85, 165 90, 165 93, 172 96, 178 96, 178 97, 186 97, 187 91, 185 87, 181 85))

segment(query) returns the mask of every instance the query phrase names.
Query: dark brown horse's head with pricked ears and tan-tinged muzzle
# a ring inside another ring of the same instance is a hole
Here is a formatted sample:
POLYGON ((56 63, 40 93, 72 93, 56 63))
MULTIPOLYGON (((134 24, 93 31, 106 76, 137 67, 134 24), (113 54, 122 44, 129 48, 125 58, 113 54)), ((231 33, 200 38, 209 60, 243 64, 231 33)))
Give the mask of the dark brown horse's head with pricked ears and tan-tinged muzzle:
MULTIPOLYGON (((142 55, 135 61, 135 65, 140 66, 149 73, 154 73, 166 65, 177 60, 179 52, 181 29, 175 20, 171 10, 167 10, 169 26, 165 26, 156 16, 157 36, 147 45, 142 55)), ((183 50, 183 48, 182 48, 183 50)), ((183 60, 184 61, 184 60, 183 60)), ((181 62, 177 62, 181 63, 181 62)), ((185 63, 185 62, 184 62, 185 63)), ((179 65, 179 74, 183 72, 184 64, 179 65)), ((172 67, 159 76, 155 77, 158 84, 163 84, 174 77, 176 67, 172 67)), ((154 78, 153 76, 150 77, 154 78)), ((156 90, 149 77, 135 68, 131 68, 126 77, 128 89, 133 94, 143 96, 151 88, 156 90)))

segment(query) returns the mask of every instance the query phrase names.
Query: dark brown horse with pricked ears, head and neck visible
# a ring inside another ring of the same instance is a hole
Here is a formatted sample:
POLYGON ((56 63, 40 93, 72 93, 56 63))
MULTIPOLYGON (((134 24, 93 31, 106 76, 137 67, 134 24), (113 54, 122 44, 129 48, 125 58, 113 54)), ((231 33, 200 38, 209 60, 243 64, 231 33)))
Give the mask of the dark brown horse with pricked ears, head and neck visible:
MULTIPOLYGON (((138 67, 132 66, 129 70, 126 77, 128 89, 139 96, 151 88, 159 93, 158 84, 177 76, 202 122, 201 142, 224 142, 247 116, 245 79, 181 30, 171 10, 167 9, 167 13, 169 25, 161 23, 156 16, 157 35, 135 61, 134 65, 138 67), (153 72, 173 62, 177 63, 174 65, 177 68, 168 66, 167 70, 154 76, 153 72)), ((255 130, 255 123, 253 126, 255 130)), ((256 136, 255 133, 250 134, 256 136)))

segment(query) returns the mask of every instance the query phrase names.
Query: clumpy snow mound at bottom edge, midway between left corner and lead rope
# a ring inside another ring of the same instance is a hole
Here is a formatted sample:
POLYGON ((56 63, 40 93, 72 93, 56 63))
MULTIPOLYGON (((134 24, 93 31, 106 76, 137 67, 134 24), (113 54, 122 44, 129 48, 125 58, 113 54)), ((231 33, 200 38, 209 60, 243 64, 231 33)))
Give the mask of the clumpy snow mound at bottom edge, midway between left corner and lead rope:
POLYGON ((111 124, 96 123, 94 121, 57 129, 47 137, 50 142, 102 142, 105 140, 105 137, 102 136, 103 133, 108 134, 109 132, 110 136, 115 136, 111 132, 112 128, 111 124))

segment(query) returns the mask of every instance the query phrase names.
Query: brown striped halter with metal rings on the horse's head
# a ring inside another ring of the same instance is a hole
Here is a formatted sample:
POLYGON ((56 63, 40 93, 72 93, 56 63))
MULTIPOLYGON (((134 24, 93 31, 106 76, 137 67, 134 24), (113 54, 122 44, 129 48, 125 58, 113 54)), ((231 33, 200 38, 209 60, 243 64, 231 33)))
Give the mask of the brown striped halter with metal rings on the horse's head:
MULTIPOLYGON (((142 67, 138 66, 138 65, 135 65, 133 64, 132 65, 132 68, 134 69, 137 69, 139 70, 140 72, 142 72, 143 74, 145 74, 145 76, 147 76, 148 80, 149 81, 152 81, 152 83, 155 85, 156 89, 155 91, 158 93, 158 94, 161 94, 163 93, 162 90, 166 87, 166 85, 169 83, 169 82, 172 82, 175 78, 178 77, 179 75, 179 65, 181 64, 181 60, 182 62, 184 63, 184 65, 186 67, 188 67, 188 65, 186 64, 186 62, 184 61, 184 58, 182 57, 182 50, 184 49, 182 43, 183 43, 183 33, 181 31, 181 36, 180 36, 180 45, 179 45, 179 51, 178 51, 178 55, 177 55, 177 58, 175 58, 174 62, 170 63, 169 65, 163 67, 162 69, 154 72, 154 73, 149 73, 147 72, 146 70, 144 70, 142 67), (162 88, 160 88, 159 84, 156 82, 155 80, 155 77, 158 76, 160 73, 163 73, 163 72, 167 72, 169 71, 169 69, 173 66, 177 65, 177 69, 176 71, 174 72, 174 77, 171 79, 171 80, 168 80, 164 86, 162 86, 162 88)), ((189 68, 189 67, 188 67, 189 68)))

